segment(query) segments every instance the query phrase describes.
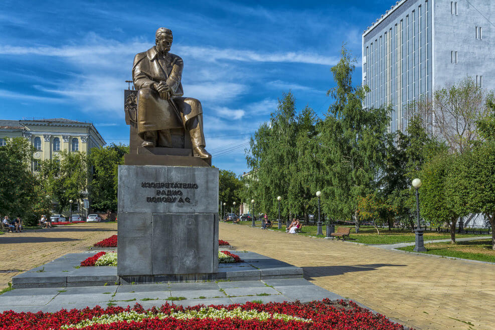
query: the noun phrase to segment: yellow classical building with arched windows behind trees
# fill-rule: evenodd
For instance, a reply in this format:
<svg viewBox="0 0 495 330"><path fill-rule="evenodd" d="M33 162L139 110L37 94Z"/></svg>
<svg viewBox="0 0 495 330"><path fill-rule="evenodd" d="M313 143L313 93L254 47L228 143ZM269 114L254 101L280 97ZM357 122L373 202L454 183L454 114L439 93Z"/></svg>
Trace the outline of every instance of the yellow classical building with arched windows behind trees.
<svg viewBox="0 0 495 330"><path fill-rule="evenodd" d="M83 151L90 153L91 148L106 144L98 130L91 122L75 121L65 118L32 118L22 120L0 120L0 146L5 145L6 138L24 136L36 149L33 153L31 170L37 172L44 159L53 159L62 150L69 152ZM79 204L87 212L88 192L82 192L86 198ZM84 213L86 213L84 212Z"/></svg>

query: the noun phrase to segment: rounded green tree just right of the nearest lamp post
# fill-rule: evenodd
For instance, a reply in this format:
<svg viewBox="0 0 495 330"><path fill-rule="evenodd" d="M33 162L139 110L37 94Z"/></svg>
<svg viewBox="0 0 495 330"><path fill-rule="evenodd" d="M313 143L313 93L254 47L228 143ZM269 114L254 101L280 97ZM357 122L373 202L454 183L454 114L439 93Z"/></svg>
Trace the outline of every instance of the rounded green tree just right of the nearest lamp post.
<svg viewBox="0 0 495 330"><path fill-rule="evenodd" d="M421 216L432 225L449 226L452 244L455 244L457 219L464 215L457 213L459 209L454 206L452 187L449 186L452 182L449 174L452 175L455 169L456 156L440 153L427 161L421 171L423 184L419 189Z"/></svg>

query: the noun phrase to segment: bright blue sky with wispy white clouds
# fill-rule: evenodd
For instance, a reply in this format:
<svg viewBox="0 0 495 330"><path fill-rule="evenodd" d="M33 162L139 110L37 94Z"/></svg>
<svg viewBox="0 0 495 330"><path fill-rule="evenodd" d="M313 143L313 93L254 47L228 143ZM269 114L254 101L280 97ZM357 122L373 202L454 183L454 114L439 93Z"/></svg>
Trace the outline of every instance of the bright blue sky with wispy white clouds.
<svg viewBox="0 0 495 330"><path fill-rule="evenodd" d="M154 33L174 33L185 96L203 104L213 164L242 174L250 133L282 92L319 115L342 44L361 63L361 34L395 1L5 1L0 12L0 119L92 121L128 143L124 80ZM361 80L357 68L355 83Z"/></svg>

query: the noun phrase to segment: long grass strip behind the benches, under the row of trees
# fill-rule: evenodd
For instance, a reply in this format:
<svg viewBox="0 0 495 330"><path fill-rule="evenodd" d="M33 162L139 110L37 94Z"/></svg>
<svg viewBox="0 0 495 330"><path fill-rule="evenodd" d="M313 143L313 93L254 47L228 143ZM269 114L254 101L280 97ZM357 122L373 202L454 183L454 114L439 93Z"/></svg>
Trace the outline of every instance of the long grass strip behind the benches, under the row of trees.
<svg viewBox="0 0 495 330"><path fill-rule="evenodd" d="M242 226L251 226L251 221L241 221L240 225ZM257 227L261 227L261 221L256 222ZM276 231L285 232L285 222L282 222L282 229L277 229L277 224L271 229ZM339 228L340 226L336 226ZM377 234L377 231L372 226L361 226L360 233L356 234L354 226L343 226L343 227L351 227L351 235L348 239L352 242L364 243L364 244L393 244L393 243L401 243L401 242L414 242L415 234L411 232L407 232L407 230L401 231L397 228L392 228L391 231L388 228L380 228L380 235ZM302 226L302 231L300 235L306 236L315 236L315 237L324 237L325 235L325 226L323 225L322 231L323 235L316 235L316 226ZM479 234L456 234L455 237L475 237L480 236ZM426 231L424 233L424 240L433 240L433 239L446 239L450 238L449 233L437 233Z"/></svg>

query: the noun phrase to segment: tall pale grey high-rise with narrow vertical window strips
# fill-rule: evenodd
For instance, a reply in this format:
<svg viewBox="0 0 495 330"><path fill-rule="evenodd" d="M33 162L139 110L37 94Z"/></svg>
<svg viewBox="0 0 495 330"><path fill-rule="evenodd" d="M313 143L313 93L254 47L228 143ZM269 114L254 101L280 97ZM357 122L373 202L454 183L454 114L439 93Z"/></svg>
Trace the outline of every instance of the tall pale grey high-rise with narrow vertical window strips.
<svg viewBox="0 0 495 330"><path fill-rule="evenodd" d="M363 33L365 107L392 105L404 130L407 105L471 77L495 90L494 0L401 0Z"/></svg>

